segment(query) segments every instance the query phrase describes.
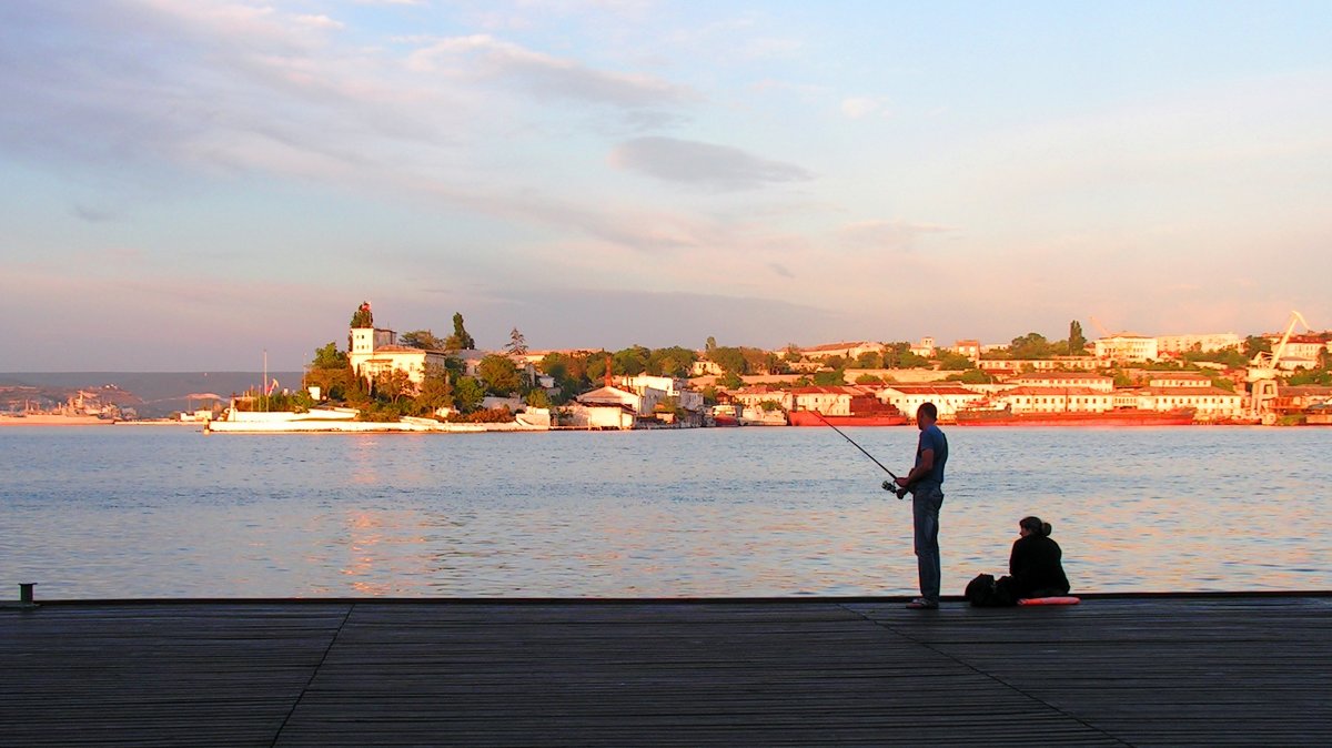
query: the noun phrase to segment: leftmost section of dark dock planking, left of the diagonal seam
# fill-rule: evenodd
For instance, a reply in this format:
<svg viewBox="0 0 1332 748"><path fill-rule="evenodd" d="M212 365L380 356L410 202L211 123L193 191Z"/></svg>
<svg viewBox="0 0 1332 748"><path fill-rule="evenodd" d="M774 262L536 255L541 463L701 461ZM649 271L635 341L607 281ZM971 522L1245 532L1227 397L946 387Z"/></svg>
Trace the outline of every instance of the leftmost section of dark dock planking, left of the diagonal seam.
<svg viewBox="0 0 1332 748"><path fill-rule="evenodd" d="M268 745L348 610L0 611L0 744Z"/></svg>

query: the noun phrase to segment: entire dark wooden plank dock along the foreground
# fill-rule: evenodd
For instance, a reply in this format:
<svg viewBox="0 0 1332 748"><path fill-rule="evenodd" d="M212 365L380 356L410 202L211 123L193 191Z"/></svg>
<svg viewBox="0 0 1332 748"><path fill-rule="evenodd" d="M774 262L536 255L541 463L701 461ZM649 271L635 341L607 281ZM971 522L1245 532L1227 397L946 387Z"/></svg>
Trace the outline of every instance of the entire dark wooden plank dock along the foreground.
<svg viewBox="0 0 1332 748"><path fill-rule="evenodd" d="M1332 596L64 602L0 745L1301 745Z"/></svg>

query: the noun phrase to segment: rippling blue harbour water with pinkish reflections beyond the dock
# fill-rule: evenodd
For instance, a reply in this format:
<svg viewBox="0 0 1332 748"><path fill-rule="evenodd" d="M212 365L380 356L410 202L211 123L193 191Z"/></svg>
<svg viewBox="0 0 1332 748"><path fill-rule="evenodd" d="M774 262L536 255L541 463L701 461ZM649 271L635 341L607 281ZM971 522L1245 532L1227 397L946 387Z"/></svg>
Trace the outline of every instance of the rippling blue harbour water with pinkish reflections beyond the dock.
<svg viewBox="0 0 1332 748"><path fill-rule="evenodd" d="M908 466L915 430L846 433ZM1332 429L947 433L946 594L1027 514L1075 591L1332 588ZM9 427L0 599L911 594L883 478L830 429Z"/></svg>

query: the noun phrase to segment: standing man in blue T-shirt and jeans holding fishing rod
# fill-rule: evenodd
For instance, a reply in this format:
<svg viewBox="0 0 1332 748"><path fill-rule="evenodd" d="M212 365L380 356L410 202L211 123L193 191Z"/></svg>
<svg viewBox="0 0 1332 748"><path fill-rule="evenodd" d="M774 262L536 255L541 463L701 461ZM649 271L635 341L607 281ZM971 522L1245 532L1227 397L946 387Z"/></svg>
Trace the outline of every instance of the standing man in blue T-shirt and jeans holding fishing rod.
<svg viewBox="0 0 1332 748"><path fill-rule="evenodd" d="M943 506L943 466L948 462L948 439L938 426L939 409L932 402L916 410L916 462L911 472L898 478L898 486L911 491L911 519L915 526L916 564L920 570L920 596L908 608L939 607L939 507Z"/></svg>

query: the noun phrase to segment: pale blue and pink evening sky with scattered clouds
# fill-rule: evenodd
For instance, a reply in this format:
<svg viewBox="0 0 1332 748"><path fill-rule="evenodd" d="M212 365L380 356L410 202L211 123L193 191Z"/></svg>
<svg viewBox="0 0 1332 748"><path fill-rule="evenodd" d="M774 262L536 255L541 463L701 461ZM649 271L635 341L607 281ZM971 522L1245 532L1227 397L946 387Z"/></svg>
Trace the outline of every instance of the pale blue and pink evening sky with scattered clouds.
<svg viewBox="0 0 1332 748"><path fill-rule="evenodd" d="M0 3L0 371L1332 327L1332 4Z"/></svg>

